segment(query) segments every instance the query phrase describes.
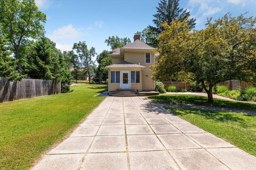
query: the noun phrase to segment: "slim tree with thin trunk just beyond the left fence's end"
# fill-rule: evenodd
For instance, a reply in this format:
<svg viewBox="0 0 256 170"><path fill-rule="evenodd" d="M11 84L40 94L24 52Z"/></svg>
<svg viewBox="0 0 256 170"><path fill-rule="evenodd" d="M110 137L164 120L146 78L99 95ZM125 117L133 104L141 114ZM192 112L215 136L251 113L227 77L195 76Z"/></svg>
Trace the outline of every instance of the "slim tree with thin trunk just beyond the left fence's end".
<svg viewBox="0 0 256 170"><path fill-rule="evenodd" d="M70 63L69 67L74 69L75 77L76 77L76 83L77 83L77 75L78 75L78 71L81 67L81 61L79 60L78 55L76 55L73 50L71 50L67 53L64 52L63 54L65 54L67 56L67 60Z"/></svg>

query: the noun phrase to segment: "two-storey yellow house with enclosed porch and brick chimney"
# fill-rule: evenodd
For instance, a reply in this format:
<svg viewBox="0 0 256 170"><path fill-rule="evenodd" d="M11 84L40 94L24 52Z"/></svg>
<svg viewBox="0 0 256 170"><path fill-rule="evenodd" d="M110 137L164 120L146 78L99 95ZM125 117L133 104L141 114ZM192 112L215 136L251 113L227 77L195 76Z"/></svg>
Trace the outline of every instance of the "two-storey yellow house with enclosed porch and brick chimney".
<svg viewBox="0 0 256 170"><path fill-rule="evenodd" d="M155 81L149 69L155 64L156 48L140 41L135 35L133 43L116 48L109 55L108 91L111 96L134 96L141 91L154 91Z"/></svg>

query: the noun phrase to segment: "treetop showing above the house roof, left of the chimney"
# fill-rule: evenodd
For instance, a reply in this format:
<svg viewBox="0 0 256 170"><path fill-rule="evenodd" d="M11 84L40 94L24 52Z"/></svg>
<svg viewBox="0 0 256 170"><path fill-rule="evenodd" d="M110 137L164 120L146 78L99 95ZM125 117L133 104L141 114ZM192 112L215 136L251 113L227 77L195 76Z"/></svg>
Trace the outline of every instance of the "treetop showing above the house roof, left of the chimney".
<svg viewBox="0 0 256 170"><path fill-rule="evenodd" d="M111 49L116 49L118 47L123 47L124 45L131 43L130 38L124 37L124 38L119 38L119 37L108 37L108 39L105 40L105 43L107 43L107 46L110 46Z"/></svg>

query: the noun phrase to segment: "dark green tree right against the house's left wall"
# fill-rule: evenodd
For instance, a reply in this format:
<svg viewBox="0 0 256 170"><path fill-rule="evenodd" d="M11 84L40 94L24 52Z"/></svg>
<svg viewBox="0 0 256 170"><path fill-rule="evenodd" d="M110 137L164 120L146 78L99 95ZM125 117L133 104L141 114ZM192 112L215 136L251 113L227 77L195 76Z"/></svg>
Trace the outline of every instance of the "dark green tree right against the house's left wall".
<svg viewBox="0 0 256 170"><path fill-rule="evenodd" d="M110 52L108 50L103 50L98 56L97 56L97 77L99 78L99 82L106 81L108 78L108 69L106 66L111 64L111 59L108 57Z"/></svg>

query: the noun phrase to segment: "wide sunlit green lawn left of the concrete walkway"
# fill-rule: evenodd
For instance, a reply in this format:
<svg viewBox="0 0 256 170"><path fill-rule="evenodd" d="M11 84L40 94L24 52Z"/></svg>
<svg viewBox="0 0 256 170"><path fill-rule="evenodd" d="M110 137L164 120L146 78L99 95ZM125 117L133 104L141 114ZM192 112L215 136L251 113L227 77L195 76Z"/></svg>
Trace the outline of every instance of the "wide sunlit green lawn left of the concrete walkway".
<svg viewBox="0 0 256 170"><path fill-rule="evenodd" d="M75 86L73 92L0 103L0 169L28 169L60 142L105 97L107 86Z"/></svg>

